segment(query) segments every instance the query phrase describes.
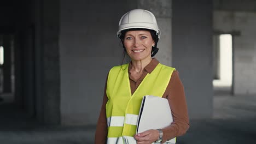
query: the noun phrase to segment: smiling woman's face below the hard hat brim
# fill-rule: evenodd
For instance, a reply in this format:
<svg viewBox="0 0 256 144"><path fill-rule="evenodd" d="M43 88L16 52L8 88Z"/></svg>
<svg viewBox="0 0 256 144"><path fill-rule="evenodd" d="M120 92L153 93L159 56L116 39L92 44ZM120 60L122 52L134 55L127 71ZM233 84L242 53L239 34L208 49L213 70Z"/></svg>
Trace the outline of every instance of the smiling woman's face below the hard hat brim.
<svg viewBox="0 0 256 144"><path fill-rule="evenodd" d="M124 37L124 46L127 54L133 61L151 59L154 40L149 31L127 31Z"/></svg>

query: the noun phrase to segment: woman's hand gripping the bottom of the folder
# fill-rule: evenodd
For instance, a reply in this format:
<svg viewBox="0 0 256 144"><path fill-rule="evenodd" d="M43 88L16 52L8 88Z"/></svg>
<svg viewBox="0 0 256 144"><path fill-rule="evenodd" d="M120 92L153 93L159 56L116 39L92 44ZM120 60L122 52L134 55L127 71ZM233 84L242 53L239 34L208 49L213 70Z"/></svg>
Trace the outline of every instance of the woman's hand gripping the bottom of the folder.
<svg viewBox="0 0 256 144"><path fill-rule="evenodd" d="M159 131L156 129L150 129L134 136L135 140L137 140L137 144L151 144L155 142L158 137Z"/></svg>

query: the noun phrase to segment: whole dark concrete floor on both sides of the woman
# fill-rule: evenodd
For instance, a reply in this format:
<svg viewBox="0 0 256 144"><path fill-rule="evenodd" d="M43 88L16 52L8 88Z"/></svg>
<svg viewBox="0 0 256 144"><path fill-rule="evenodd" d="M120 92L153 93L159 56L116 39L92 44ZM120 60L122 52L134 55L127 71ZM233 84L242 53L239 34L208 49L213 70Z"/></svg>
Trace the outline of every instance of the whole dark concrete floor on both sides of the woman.
<svg viewBox="0 0 256 144"><path fill-rule="evenodd" d="M0 102L3 103L3 102ZM256 95L217 94L212 119L190 121L177 144L256 143ZM95 125L45 127L11 104L0 105L1 144L94 143Z"/></svg>

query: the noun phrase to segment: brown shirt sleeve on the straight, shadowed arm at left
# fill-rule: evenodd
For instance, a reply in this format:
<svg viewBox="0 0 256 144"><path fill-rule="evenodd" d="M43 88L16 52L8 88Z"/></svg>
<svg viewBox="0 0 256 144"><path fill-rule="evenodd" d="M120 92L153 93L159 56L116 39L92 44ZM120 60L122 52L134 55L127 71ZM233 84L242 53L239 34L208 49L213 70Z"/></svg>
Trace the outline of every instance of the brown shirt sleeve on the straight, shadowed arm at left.
<svg viewBox="0 0 256 144"><path fill-rule="evenodd" d="M107 118L106 118L106 104L108 101L108 97L106 94L106 88L107 88L107 80L104 88L101 112L100 112L100 116L98 117L98 122L97 122L97 127L95 132L95 138L94 138L95 144L107 143L108 127L107 127Z"/></svg>

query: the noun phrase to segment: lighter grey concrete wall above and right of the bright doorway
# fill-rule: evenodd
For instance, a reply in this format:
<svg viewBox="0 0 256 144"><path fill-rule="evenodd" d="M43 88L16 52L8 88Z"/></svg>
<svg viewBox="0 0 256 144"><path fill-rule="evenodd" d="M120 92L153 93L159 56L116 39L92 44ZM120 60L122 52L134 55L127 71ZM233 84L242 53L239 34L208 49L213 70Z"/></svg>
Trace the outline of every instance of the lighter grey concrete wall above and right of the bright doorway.
<svg viewBox="0 0 256 144"><path fill-rule="evenodd" d="M214 30L232 33L234 49L234 94L256 94L256 13L214 11Z"/></svg>

